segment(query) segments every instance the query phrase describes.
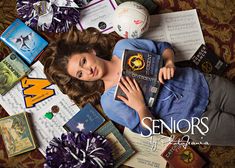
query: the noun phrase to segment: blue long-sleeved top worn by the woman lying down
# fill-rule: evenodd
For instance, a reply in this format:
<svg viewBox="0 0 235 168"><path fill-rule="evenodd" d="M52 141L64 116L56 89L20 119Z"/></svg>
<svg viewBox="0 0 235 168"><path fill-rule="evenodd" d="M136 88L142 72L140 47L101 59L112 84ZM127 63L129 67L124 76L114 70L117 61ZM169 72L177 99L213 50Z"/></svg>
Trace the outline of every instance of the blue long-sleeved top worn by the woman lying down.
<svg viewBox="0 0 235 168"><path fill-rule="evenodd" d="M162 54L166 48L172 48L169 43L145 39L120 40L113 50L113 55L121 59L124 49L149 51ZM134 132L143 133L138 113L122 101L114 100L117 86L105 91L101 96L101 105L106 115L116 123L128 127ZM176 123L192 117L201 117L208 104L209 88L204 75L192 68L176 68L173 79L165 81L160 89L158 99L151 109L156 118L161 118L171 128L171 121ZM180 122L180 128L188 127L186 122Z"/></svg>

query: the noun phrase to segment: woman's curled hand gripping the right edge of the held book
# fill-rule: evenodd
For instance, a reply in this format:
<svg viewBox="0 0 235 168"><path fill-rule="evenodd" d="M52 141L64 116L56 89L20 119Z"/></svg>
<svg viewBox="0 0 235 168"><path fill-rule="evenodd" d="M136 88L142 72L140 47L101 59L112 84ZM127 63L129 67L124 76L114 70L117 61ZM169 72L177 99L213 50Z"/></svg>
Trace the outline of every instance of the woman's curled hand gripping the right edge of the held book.
<svg viewBox="0 0 235 168"><path fill-rule="evenodd" d="M175 65L172 60L168 60L163 68L160 69L158 74L158 80L164 84L164 80L173 78L175 74Z"/></svg>

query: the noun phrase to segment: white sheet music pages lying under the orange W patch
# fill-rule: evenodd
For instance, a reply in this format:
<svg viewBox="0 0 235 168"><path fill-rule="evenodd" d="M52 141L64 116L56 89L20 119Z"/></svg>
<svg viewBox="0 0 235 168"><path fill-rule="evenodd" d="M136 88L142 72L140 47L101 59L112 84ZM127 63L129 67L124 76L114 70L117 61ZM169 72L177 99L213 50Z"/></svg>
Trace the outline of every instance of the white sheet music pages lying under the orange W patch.
<svg viewBox="0 0 235 168"><path fill-rule="evenodd" d="M32 65L32 71L28 75L30 79L37 80L46 79L43 72L43 65L38 61ZM54 137L60 137L63 132L66 132L63 125L72 118L80 109L66 95L64 95L56 85L50 85L44 89L54 90L54 95L35 104L34 107L27 108L21 83L18 83L12 90L4 96L0 96L0 104L8 112L9 115L14 115L23 111L31 113L32 130L35 132L38 140L39 150L45 156L46 147L49 141ZM36 88L35 88L36 89ZM33 89L31 88L33 92ZM34 96L34 95L31 95ZM51 108L57 106L58 113L53 113L53 118L45 117L47 112L51 112Z"/></svg>

